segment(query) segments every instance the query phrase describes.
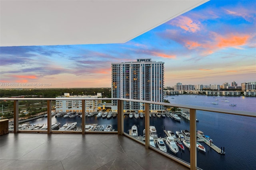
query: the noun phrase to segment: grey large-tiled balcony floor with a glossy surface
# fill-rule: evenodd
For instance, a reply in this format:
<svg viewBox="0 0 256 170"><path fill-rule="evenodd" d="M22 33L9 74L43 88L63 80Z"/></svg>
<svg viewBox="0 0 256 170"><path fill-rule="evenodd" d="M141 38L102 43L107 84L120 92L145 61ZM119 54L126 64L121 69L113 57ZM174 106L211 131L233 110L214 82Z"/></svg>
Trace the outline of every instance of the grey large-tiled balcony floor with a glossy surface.
<svg viewBox="0 0 256 170"><path fill-rule="evenodd" d="M0 136L1 170L188 170L117 134L9 133Z"/></svg>

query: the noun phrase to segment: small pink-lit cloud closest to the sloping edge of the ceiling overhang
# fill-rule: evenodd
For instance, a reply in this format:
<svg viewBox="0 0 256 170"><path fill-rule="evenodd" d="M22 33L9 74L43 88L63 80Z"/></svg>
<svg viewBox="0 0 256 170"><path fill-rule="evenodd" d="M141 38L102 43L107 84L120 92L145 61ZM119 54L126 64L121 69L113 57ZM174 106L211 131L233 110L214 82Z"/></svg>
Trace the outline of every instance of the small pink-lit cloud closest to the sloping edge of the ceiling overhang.
<svg viewBox="0 0 256 170"><path fill-rule="evenodd" d="M191 18L186 16L179 16L171 20L169 23L193 33L200 30L200 22L193 21Z"/></svg>

